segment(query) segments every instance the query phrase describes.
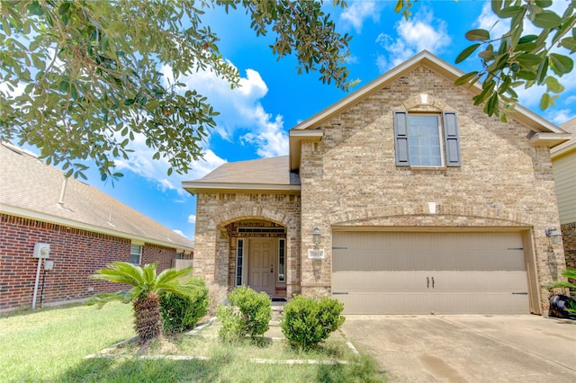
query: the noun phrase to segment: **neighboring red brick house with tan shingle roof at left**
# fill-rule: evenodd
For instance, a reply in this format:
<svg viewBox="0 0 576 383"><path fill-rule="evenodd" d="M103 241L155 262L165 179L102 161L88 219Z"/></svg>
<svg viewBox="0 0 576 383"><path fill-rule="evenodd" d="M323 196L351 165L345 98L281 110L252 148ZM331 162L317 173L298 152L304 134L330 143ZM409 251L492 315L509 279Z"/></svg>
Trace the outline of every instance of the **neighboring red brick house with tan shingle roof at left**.
<svg viewBox="0 0 576 383"><path fill-rule="evenodd" d="M36 244L49 245L52 270L40 262L36 307L121 289L90 275L114 261L158 263L190 258L193 243L103 191L0 145L0 311L32 304ZM49 263L48 263L49 264ZM42 289L43 285L43 289Z"/></svg>

